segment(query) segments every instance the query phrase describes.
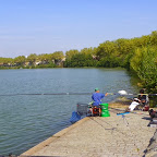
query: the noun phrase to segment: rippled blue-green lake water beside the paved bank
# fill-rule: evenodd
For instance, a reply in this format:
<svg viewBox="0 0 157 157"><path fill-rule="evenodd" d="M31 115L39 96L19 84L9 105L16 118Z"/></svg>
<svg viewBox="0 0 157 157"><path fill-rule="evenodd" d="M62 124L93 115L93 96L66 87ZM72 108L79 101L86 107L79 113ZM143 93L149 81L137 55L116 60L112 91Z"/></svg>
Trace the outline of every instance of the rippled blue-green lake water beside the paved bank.
<svg viewBox="0 0 157 157"><path fill-rule="evenodd" d="M43 93L134 93L130 76L116 69L1 70L0 95ZM107 96L108 102L114 96ZM77 102L90 95L0 96L0 155L20 155L69 126Z"/></svg>

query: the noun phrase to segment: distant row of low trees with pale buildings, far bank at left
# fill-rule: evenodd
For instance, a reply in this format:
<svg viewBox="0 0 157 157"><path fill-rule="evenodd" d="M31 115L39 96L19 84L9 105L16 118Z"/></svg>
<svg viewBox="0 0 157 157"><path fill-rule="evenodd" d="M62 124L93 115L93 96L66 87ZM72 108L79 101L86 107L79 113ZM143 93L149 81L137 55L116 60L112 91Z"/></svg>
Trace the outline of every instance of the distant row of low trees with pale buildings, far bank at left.
<svg viewBox="0 0 157 157"><path fill-rule="evenodd" d="M56 51L53 53L36 55L31 53L28 57L19 56L12 58L0 58L1 69L10 68L56 68L62 67L64 55L62 51Z"/></svg>

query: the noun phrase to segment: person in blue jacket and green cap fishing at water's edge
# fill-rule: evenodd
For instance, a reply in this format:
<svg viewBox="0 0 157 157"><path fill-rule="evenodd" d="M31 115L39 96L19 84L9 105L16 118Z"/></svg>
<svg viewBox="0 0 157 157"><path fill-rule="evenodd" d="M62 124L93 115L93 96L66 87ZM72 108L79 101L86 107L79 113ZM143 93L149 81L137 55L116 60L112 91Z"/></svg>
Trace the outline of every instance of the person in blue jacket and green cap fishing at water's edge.
<svg viewBox="0 0 157 157"><path fill-rule="evenodd" d="M101 104L101 99L107 95L108 95L108 93L101 94L101 93L99 93L98 88L95 88L95 93L92 96L92 99L94 101L93 106L99 106Z"/></svg>

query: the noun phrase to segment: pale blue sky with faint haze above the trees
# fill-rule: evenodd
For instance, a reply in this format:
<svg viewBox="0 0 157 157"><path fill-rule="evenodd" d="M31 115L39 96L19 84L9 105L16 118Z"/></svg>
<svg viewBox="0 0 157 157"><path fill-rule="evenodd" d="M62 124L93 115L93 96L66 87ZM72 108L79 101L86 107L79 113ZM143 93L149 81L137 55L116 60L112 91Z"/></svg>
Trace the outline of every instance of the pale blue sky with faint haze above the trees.
<svg viewBox="0 0 157 157"><path fill-rule="evenodd" d="M0 0L0 57L81 50L157 31L157 0Z"/></svg>

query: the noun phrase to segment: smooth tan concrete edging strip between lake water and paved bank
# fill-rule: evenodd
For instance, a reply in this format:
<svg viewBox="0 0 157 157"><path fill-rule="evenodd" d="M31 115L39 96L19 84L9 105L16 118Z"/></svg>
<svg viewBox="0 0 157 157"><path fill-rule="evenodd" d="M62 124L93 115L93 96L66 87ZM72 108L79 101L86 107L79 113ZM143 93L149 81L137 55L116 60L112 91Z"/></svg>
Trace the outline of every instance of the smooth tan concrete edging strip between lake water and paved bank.
<svg viewBox="0 0 157 157"><path fill-rule="evenodd" d="M89 120L88 117L77 121L76 123L59 131L58 133L53 134L52 136L50 136L49 138L45 140L44 142L39 143L38 145L32 147L31 149L24 152L23 154L20 155L20 157L22 156L32 156L33 154L35 154L36 152L40 150L41 148L44 148L45 146L48 146L50 143L52 143L53 141L56 141L57 138L63 136L65 133L68 133L69 131L73 130L74 128L78 126L80 124L84 123L85 121Z"/></svg>

